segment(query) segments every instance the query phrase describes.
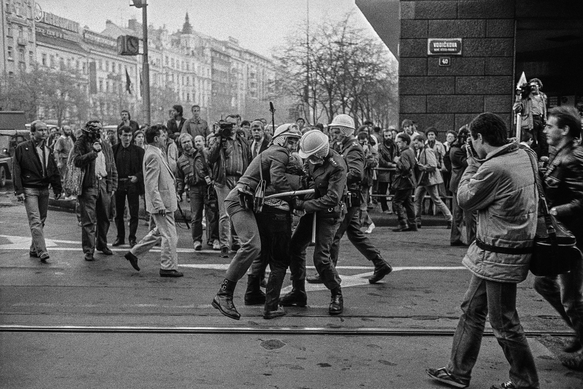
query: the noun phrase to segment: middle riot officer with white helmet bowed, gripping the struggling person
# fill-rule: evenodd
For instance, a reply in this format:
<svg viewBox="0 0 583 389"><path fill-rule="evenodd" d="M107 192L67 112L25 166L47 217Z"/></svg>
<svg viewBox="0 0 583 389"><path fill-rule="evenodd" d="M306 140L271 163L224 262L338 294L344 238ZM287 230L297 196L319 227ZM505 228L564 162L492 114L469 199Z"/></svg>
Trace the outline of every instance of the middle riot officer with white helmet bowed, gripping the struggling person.
<svg viewBox="0 0 583 389"><path fill-rule="evenodd" d="M322 282L331 291L328 312L331 315L342 313L344 309L340 276L330 258L332 240L342 221L345 209L342 199L346 195L346 164L343 158L331 150L328 137L319 130L307 131L300 140L300 157L306 158L308 186L315 193L304 200L296 200L293 206L305 210L306 214L291 236L290 270L293 289L280 299L284 306L305 307L305 249L310 244L312 220L316 215L314 265L322 277Z"/></svg>

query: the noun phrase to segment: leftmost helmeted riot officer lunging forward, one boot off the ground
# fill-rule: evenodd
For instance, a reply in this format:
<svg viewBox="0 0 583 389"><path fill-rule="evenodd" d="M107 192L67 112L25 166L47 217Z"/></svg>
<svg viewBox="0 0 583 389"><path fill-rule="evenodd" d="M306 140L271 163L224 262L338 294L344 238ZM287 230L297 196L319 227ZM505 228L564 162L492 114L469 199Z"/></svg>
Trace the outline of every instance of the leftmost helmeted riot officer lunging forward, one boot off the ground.
<svg viewBox="0 0 583 389"><path fill-rule="evenodd" d="M241 315L233 304L233 292L238 280L245 275L254 259L261 255L261 239L255 212L260 211L257 204L258 202L262 203L262 196L270 194L269 192L261 192L266 187L271 188L273 193L293 190L286 178L286 167L290 163L290 150L296 149L301 133L297 128L294 128L297 126L289 127L291 126L288 125L282 128L278 134L274 134L273 144L253 159L236 186L224 200L224 206L241 241L241 247L231 261L226 277L213 299L212 305L223 315L236 320L240 319ZM291 218L289 220L289 234L291 234ZM268 316L268 318L285 315L285 311L279 309L278 298L289 265L289 258L286 259L285 256L282 256L279 259L280 261L270 263L273 265L267 289L271 293L268 293L269 304L265 306L268 312L264 313L264 317ZM278 298L271 297L275 295Z"/></svg>

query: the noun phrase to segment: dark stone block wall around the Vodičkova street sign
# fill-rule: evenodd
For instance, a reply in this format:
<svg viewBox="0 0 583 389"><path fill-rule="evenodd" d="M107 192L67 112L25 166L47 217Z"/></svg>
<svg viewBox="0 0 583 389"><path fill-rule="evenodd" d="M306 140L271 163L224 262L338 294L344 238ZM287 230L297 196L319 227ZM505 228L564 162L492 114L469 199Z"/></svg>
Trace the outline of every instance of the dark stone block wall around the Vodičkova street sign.
<svg viewBox="0 0 583 389"><path fill-rule="evenodd" d="M494 112L511 128L514 3L401 0L399 122L435 126L445 138L477 114ZM428 38L462 38L462 55L441 67L437 55L427 55Z"/></svg>

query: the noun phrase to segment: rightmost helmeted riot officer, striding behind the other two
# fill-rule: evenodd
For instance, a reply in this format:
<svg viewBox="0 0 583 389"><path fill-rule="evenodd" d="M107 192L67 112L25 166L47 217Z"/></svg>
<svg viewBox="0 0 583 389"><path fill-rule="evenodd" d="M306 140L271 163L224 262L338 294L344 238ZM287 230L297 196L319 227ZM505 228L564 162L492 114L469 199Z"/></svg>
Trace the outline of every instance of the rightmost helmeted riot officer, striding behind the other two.
<svg viewBox="0 0 583 389"><path fill-rule="evenodd" d="M337 115L329 125L329 129L333 134L334 141L340 145L340 154L345 159L348 168L346 175L346 185L348 187L346 196L347 213L334 236L330 256L334 266L336 266L340 239L346 232L354 247L368 261L373 262L374 273L368 279L368 282L374 284L391 273L392 268L387 261L382 259L381 252L373 246L367 235L360 230L360 204L364 201L360 190L360 181L364 175L364 151L354 138L354 120L352 117L344 113ZM308 282L321 283L321 275L308 278Z"/></svg>

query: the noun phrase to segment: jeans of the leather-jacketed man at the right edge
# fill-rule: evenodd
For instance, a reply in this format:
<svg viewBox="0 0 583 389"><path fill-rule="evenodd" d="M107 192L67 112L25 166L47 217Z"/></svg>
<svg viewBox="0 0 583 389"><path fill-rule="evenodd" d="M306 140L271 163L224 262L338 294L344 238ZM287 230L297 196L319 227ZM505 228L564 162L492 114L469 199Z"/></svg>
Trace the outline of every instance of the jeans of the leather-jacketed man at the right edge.
<svg viewBox="0 0 583 389"><path fill-rule="evenodd" d="M583 246L578 242L578 246ZM583 339L583 263L571 272L554 277L536 277L535 290L559 312L575 337Z"/></svg>

